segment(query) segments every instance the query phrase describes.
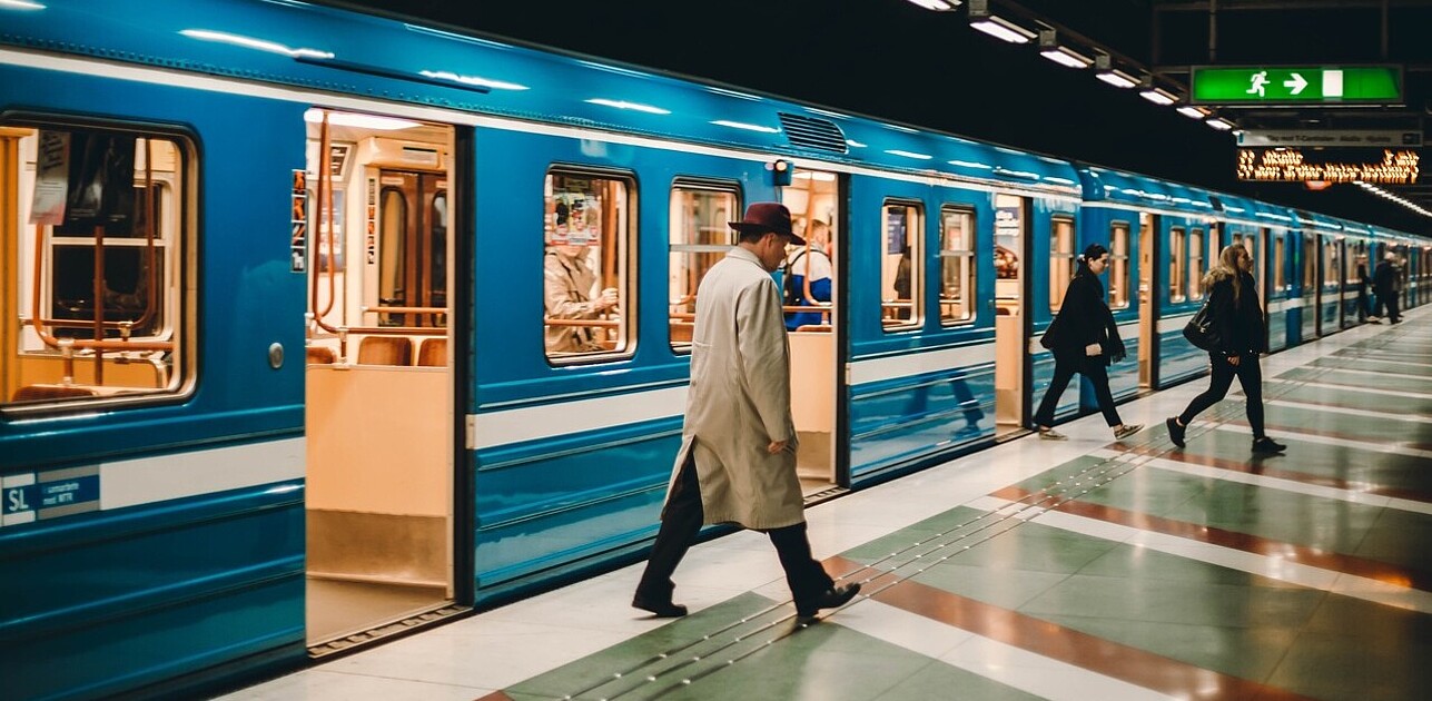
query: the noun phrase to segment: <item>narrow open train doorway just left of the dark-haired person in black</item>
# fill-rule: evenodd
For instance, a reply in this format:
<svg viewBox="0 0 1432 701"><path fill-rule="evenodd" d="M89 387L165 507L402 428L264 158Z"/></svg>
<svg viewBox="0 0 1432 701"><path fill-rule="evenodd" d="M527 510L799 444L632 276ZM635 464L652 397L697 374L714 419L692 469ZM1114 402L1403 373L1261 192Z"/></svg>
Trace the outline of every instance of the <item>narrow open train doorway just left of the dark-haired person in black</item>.
<svg viewBox="0 0 1432 701"><path fill-rule="evenodd" d="M995 438L1024 428L1028 386L1028 219L1024 197L994 196Z"/></svg>

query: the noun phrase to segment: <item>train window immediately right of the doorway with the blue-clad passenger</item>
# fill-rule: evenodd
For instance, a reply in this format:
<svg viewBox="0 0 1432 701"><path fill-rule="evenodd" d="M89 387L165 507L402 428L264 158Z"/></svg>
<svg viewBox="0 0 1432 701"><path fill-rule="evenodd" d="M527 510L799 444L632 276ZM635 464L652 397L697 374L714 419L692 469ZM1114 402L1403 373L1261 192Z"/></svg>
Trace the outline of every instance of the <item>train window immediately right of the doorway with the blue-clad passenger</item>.
<svg viewBox="0 0 1432 701"><path fill-rule="evenodd" d="M919 325L924 207L914 202L886 202L881 237L881 325L902 330Z"/></svg>

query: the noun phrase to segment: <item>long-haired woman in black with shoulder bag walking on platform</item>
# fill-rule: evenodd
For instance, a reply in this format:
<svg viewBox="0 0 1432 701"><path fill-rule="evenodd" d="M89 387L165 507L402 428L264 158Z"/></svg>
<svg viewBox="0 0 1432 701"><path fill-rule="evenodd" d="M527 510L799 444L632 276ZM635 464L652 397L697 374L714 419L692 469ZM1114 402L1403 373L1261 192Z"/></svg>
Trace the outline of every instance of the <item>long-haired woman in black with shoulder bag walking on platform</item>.
<svg viewBox="0 0 1432 701"><path fill-rule="evenodd" d="M1263 371L1259 368L1259 355L1267 352L1267 335L1263 332L1263 305L1259 302L1252 270L1253 256L1242 243L1234 243L1219 253L1219 265L1203 278L1214 330L1214 348L1209 350L1211 379L1209 389L1194 396L1183 413L1164 421L1169 438L1179 448L1184 446L1189 422L1221 401L1237 375L1243 396L1247 398L1253 452L1270 455L1287 449L1263 432Z"/></svg>

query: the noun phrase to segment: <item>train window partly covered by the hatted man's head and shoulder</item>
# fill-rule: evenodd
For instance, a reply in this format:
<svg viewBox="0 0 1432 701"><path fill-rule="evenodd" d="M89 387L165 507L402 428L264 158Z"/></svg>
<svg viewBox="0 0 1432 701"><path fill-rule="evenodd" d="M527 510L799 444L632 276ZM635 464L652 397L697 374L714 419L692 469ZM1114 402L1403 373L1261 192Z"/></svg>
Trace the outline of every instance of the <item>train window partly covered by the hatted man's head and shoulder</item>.
<svg viewBox="0 0 1432 701"><path fill-rule="evenodd" d="M729 223L740 219L740 193L735 186L683 182L672 186L666 305L673 350L692 349L696 288L706 270L736 245L736 232Z"/></svg>

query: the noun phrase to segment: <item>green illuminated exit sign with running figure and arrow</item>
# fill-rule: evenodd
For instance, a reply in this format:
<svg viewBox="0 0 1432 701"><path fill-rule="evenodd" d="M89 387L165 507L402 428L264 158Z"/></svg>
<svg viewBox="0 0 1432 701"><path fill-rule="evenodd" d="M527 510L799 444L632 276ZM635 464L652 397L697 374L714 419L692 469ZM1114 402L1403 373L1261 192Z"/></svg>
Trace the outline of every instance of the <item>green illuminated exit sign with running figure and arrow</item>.
<svg viewBox="0 0 1432 701"><path fill-rule="evenodd" d="M1193 67L1194 104L1388 104L1402 102L1400 66Z"/></svg>

